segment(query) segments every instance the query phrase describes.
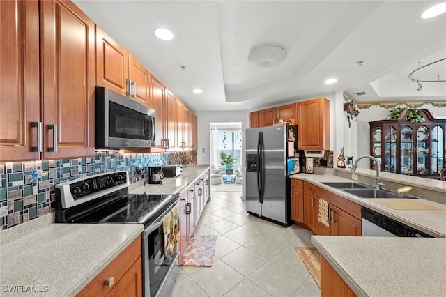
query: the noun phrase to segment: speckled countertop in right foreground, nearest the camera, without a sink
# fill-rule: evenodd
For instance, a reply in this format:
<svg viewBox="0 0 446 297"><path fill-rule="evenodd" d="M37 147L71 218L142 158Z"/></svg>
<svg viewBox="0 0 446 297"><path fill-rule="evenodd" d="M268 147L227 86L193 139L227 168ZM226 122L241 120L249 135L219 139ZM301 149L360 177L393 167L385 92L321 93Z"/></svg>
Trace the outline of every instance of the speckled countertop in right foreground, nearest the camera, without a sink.
<svg viewBox="0 0 446 297"><path fill-rule="evenodd" d="M357 296L445 296L446 240L312 236Z"/></svg>

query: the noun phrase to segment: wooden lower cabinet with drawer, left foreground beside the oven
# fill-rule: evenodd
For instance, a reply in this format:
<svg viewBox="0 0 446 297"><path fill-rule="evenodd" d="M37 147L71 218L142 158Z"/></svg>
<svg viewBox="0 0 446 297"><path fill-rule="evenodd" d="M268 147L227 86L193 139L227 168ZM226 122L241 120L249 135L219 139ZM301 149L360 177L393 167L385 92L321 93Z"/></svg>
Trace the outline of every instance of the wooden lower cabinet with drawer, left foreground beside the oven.
<svg viewBox="0 0 446 297"><path fill-rule="evenodd" d="M142 296L141 235L77 294L83 296Z"/></svg>

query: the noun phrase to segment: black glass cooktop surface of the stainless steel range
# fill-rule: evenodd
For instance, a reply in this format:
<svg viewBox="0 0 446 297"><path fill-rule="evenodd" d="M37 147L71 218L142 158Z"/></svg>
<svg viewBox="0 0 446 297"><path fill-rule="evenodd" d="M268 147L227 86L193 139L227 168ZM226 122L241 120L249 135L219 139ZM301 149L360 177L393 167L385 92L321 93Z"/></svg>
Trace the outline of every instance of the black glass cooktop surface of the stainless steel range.
<svg viewBox="0 0 446 297"><path fill-rule="evenodd" d="M125 195L72 220L76 223L151 224L176 201L176 195Z"/></svg>

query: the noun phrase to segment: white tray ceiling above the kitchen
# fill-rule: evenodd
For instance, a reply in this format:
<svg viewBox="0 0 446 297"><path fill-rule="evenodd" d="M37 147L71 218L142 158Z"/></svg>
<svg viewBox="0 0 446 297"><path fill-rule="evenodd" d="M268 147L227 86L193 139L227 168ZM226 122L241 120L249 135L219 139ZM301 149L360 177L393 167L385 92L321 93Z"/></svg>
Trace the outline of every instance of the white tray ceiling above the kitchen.
<svg viewBox="0 0 446 297"><path fill-rule="evenodd" d="M417 91L408 79L418 61L446 57L446 14L420 18L441 1L74 2L195 112L260 109L339 90L357 101L446 101L446 82ZM174 39L157 39L158 27ZM286 59L252 66L247 56L260 45L284 47ZM414 78L424 75L445 80L446 60ZM330 77L338 82L324 84ZM355 96L360 91L367 95Z"/></svg>

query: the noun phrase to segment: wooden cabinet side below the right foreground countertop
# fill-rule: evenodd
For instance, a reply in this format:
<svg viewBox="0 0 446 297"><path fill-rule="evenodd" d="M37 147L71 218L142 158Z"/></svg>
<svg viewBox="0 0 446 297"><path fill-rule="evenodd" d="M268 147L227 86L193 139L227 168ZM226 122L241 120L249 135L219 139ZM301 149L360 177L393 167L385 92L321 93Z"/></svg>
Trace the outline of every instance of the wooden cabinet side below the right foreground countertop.
<svg viewBox="0 0 446 297"><path fill-rule="evenodd" d="M342 277L321 256L321 297L354 297L355 292L348 287Z"/></svg>

